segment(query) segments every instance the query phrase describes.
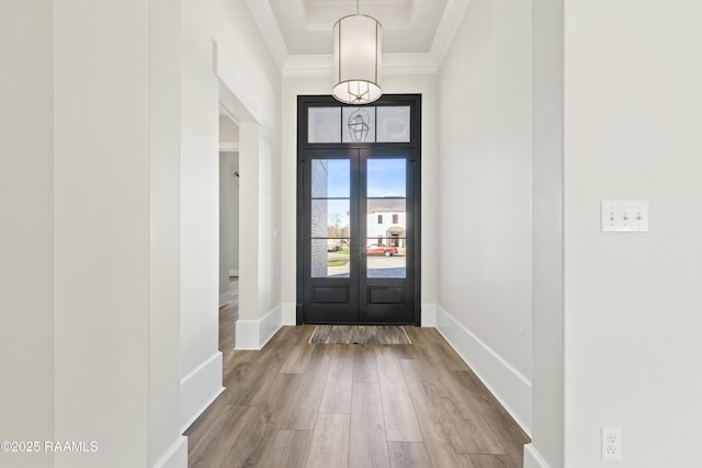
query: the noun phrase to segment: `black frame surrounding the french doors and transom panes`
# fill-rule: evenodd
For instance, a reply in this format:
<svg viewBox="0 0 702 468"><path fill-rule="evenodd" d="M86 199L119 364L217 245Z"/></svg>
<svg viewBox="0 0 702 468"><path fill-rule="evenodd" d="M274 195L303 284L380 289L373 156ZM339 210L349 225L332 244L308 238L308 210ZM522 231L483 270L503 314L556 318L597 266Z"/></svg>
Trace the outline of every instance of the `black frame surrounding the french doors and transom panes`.
<svg viewBox="0 0 702 468"><path fill-rule="evenodd" d="M421 326L421 94L384 94L380 100L369 106L403 105L410 107L410 140L409 142L340 142L340 144L309 144L307 141L308 110L309 107L344 107L354 105L342 104L330 95L298 95L297 96L297 227L296 227L296 323L304 323L304 247L305 240L303 196L304 155L306 149L396 149L411 150L414 163L412 196L415 198L415 213L411 228L415 232L414 242L414 324ZM410 265L408 265L409 267Z"/></svg>

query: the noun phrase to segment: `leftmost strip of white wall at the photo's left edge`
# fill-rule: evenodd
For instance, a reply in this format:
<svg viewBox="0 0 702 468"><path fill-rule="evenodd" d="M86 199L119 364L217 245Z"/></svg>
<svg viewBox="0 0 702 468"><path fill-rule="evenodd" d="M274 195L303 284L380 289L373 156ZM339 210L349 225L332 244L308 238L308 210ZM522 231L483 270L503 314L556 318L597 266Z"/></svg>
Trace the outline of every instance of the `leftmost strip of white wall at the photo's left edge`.
<svg viewBox="0 0 702 468"><path fill-rule="evenodd" d="M0 441L54 440L53 35L52 2L0 7Z"/></svg>

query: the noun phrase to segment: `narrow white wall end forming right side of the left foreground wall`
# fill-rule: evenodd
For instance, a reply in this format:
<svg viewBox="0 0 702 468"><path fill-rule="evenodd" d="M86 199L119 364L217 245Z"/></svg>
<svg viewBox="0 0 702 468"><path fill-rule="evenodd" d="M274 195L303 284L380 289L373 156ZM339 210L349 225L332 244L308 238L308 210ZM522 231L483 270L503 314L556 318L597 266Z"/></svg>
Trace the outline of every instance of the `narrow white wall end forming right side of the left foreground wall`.
<svg viewBox="0 0 702 468"><path fill-rule="evenodd" d="M148 465L184 467L180 434L180 0L149 2Z"/></svg>

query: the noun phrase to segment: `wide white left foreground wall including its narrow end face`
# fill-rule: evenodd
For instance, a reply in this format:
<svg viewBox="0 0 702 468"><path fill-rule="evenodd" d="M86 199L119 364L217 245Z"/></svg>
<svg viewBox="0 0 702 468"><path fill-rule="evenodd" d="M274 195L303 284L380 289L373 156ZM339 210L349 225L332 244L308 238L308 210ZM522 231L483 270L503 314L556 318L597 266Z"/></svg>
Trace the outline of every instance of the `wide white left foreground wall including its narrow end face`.
<svg viewBox="0 0 702 468"><path fill-rule="evenodd" d="M56 466L182 466L179 4L54 13Z"/></svg>

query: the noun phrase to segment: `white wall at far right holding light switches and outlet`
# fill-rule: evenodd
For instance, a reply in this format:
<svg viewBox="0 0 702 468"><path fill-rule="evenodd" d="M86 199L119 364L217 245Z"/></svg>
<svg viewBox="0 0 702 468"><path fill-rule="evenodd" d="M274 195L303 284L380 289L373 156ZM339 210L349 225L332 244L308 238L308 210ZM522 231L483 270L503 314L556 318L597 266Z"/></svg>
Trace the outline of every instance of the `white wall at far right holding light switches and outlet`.
<svg viewBox="0 0 702 468"><path fill-rule="evenodd" d="M702 419L702 3L565 2L566 466L692 468ZM650 201L648 233L600 201ZM680 449L671 447L680 447Z"/></svg>

